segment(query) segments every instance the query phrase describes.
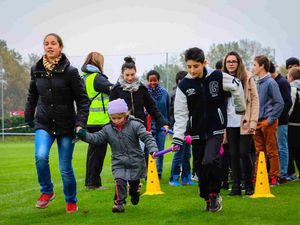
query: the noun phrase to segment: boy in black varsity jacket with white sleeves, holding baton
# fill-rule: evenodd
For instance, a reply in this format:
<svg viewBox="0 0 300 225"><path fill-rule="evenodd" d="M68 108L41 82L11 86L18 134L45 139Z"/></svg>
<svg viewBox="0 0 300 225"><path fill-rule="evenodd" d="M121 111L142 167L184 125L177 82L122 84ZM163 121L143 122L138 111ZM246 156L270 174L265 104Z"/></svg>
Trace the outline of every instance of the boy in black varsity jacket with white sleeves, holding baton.
<svg viewBox="0 0 300 225"><path fill-rule="evenodd" d="M228 94L234 97L237 114L244 114L245 100L240 81L226 73L205 67L204 52L190 48L185 52L188 75L179 83L174 102L173 147L182 146L187 123L199 177L200 197L205 211L222 209L220 147L227 124Z"/></svg>

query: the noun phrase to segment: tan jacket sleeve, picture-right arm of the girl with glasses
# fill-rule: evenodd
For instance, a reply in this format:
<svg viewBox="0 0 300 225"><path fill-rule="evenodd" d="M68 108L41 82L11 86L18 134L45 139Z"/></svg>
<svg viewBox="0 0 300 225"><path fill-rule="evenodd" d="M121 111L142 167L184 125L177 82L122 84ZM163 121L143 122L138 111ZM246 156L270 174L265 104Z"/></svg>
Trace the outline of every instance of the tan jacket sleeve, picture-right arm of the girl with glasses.
<svg viewBox="0 0 300 225"><path fill-rule="evenodd" d="M253 77L249 80L250 87L250 128L256 129L258 116L259 116L259 99L255 81Z"/></svg>

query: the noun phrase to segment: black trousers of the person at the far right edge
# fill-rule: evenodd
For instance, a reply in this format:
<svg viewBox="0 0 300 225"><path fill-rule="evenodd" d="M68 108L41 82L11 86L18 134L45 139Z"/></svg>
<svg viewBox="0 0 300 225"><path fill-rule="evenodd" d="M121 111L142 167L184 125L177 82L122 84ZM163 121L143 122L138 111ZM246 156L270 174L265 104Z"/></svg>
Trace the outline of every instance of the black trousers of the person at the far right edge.
<svg viewBox="0 0 300 225"><path fill-rule="evenodd" d="M288 126L288 146L289 146L289 166L288 175L294 174L295 164L298 171L300 171L300 141L299 141L300 127Z"/></svg>

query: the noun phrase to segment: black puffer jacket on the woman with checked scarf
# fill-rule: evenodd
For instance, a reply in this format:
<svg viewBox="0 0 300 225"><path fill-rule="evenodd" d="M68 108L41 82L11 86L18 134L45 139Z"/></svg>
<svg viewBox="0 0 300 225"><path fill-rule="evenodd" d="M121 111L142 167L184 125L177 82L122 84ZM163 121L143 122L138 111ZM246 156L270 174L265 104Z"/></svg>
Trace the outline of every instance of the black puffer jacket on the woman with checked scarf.
<svg viewBox="0 0 300 225"><path fill-rule="evenodd" d="M31 68L25 122L34 120L35 130L44 129L57 136L73 136L76 126L86 126L88 112L89 99L84 84L78 70L70 65L64 54L48 76L43 59Z"/></svg>

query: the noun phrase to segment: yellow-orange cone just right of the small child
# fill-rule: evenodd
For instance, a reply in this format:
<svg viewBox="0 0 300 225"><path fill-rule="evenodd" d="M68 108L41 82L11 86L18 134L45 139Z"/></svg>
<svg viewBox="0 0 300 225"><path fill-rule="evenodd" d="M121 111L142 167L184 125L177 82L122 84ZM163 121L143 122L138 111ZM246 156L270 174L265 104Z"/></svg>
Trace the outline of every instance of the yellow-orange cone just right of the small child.
<svg viewBox="0 0 300 225"><path fill-rule="evenodd" d="M164 194L160 189L160 183L156 170L156 161L151 155L148 157L148 172L146 192L143 195L161 195Z"/></svg>

